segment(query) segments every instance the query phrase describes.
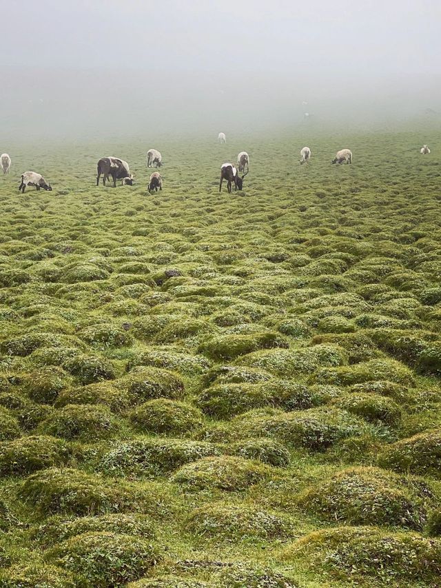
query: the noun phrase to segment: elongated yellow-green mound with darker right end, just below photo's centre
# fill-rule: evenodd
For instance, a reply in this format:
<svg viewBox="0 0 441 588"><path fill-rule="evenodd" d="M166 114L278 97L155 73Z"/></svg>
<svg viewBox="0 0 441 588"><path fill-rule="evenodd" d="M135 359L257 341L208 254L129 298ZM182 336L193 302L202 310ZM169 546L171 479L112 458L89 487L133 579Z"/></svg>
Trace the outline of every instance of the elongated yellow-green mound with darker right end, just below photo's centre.
<svg viewBox="0 0 441 588"><path fill-rule="evenodd" d="M234 359L257 349L271 347L287 348L287 341L276 333L255 333L252 335L220 335L199 346L199 351L217 361Z"/></svg>

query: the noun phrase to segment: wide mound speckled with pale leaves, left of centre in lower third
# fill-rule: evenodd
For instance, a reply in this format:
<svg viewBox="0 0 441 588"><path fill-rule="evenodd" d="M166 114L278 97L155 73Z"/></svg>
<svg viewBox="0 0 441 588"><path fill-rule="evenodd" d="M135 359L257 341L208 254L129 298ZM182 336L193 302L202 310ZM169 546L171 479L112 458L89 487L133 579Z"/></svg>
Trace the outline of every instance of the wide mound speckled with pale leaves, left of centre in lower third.
<svg viewBox="0 0 441 588"><path fill-rule="evenodd" d="M119 443L103 455L98 467L114 476L154 477L219 454L220 449L206 441L145 438Z"/></svg>

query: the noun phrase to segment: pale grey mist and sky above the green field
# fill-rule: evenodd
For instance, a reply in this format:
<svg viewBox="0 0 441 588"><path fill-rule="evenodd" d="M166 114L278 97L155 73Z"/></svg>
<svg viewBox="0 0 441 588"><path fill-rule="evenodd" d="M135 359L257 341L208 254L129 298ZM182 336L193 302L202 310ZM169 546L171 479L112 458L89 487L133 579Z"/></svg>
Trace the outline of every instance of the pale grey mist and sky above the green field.
<svg viewBox="0 0 441 588"><path fill-rule="evenodd" d="M441 121L435 1L27 0L6 10L4 138Z"/></svg>

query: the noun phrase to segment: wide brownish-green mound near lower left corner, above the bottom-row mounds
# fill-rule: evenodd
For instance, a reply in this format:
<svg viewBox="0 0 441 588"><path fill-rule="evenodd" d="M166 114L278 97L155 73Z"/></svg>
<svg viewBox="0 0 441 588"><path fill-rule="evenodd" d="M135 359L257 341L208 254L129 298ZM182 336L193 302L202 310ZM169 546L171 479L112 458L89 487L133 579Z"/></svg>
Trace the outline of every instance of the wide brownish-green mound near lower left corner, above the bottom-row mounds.
<svg viewBox="0 0 441 588"><path fill-rule="evenodd" d="M19 497L46 516L137 511L143 504L141 496L131 487L68 467L31 474L21 485Z"/></svg>

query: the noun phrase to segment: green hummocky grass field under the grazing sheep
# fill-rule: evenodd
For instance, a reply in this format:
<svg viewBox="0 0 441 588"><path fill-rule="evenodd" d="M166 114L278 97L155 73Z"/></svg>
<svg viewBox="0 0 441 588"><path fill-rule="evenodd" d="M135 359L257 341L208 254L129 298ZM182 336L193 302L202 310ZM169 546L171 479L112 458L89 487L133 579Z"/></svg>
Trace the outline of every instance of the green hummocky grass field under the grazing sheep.
<svg viewBox="0 0 441 588"><path fill-rule="evenodd" d="M440 586L437 142L3 149L0 588Z"/></svg>

